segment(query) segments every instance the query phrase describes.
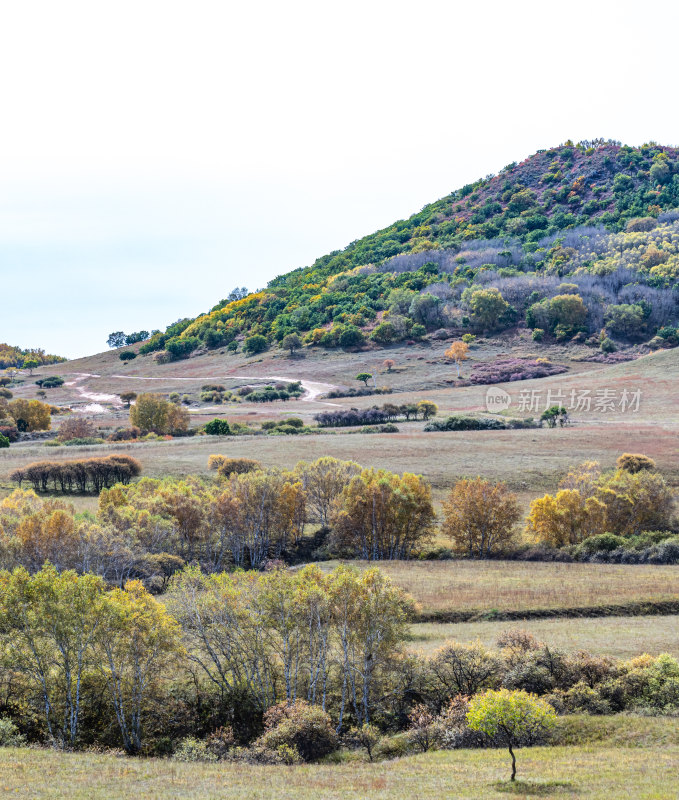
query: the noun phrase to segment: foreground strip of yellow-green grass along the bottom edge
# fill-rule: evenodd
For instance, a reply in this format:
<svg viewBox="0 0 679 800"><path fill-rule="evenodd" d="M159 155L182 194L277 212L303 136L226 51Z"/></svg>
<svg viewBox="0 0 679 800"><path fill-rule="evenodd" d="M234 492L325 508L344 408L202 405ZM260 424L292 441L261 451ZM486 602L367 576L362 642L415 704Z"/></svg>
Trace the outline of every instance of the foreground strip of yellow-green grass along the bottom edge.
<svg viewBox="0 0 679 800"><path fill-rule="evenodd" d="M576 729L569 719L561 738ZM577 720L580 745L518 751L516 786L507 781L504 750L439 751L388 764L298 767L186 764L98 753L0 749L0 796L42 800L391 800L442 797L499 800L667 800L679 795L679 721Z"/></svg>

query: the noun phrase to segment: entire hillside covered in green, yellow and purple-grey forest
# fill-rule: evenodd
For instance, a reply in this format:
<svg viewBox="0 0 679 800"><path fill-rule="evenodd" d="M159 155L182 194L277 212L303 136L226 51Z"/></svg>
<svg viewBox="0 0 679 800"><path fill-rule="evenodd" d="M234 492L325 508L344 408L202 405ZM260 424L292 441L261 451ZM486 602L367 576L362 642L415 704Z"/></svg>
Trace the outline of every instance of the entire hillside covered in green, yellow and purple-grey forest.
<svg viewBox="0 0 679 800"><path fill-rule="evenodd" d="M256 353L418 339L441 327L676 343L679 150L597 140L539 151L264 290L155 332L141 353ZM567 278L567 280L562 280ZM299 337L299 341L295 341Z"/></svg>

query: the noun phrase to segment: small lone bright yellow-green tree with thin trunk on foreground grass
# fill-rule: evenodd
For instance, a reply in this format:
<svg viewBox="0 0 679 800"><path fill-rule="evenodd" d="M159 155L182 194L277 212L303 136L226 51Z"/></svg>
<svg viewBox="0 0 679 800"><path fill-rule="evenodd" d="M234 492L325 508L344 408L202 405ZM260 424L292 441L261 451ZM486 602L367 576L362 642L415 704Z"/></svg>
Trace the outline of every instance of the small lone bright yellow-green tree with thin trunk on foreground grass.
<svg viewBox="0 0 679 800"><path fill-rule="evenodd" d="M540 741L555 726L556 713L549 703L528 692L490 689L469 701L467 724L508 747L514 781L514 748Z"/></svg>

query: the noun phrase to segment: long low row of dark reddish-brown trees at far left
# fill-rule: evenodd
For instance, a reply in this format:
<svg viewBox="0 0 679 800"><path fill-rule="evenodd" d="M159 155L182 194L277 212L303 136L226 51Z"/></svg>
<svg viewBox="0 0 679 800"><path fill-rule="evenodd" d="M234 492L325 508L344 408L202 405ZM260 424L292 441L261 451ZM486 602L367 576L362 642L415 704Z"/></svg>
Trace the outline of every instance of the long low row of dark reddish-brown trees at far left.
<svg viewBox="0 0 679 800"><path fill-rule="evenodd" d="M96 492L114 484L128 484L141 475L141 464L126 455L68 461L36 461L14 470L10 480L22 486L30 483L35 492ZM50 486L51 484L51 486Z"/></svg>

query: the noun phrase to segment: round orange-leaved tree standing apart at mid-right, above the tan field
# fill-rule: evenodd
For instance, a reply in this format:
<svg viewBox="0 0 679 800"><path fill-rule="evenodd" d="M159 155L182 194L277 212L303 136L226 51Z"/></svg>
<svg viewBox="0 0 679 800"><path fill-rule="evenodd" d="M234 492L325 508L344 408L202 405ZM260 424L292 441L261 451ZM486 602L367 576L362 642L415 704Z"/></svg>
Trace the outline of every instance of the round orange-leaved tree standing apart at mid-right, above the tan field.
<svg viewBox="0 0 679 800"><path fill-rule="evenodd" d="M515 494L506 483L482 478L463 478L443 503L441 532L449 536L459 553L488 558L509 542L521 518Z"/></svg>

